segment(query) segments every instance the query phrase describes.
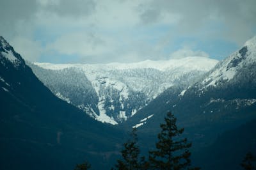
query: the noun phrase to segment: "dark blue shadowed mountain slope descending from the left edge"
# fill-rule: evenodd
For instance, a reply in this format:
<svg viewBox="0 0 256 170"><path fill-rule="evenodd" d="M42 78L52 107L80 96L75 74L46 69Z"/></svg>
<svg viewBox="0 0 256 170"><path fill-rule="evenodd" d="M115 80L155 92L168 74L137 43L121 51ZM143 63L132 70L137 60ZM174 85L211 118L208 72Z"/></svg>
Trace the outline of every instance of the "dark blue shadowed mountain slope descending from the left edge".
<svg viewBox="0 0 256 170"><path fill-rule="evenodd" d="M0 169L109 167L123 138L52 95L0 36Z"/></svg>

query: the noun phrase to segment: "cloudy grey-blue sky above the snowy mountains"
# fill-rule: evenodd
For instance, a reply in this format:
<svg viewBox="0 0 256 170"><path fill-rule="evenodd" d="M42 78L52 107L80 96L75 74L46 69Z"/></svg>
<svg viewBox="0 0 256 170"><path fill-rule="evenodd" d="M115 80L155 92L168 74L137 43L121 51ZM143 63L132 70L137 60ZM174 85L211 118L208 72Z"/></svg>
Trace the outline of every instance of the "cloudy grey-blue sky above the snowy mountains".
<svg viewBox="0 0 256 170"><path fill-rule="evenodd" d="M223 59L256 35L256 1L0 0L0 35L28 61Z"/></svg>

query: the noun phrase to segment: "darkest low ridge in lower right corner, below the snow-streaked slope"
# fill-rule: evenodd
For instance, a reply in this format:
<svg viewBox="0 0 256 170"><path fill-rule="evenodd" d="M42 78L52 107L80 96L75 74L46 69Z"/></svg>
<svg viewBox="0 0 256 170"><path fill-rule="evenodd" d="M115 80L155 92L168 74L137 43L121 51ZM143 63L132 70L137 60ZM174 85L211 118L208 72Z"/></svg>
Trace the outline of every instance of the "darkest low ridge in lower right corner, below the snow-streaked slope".
<svg viewBox="0 0 256 170"><path fill-rule="evenodd" d="M256 153L256 120L249 121L218 136L211 146L194 153L202 169L243 169L241 162L249 151ZM218 159L216 159L218 158ZM216 160L216 161L212 161ZM217 162L217 163L216 163Z"/></svg>

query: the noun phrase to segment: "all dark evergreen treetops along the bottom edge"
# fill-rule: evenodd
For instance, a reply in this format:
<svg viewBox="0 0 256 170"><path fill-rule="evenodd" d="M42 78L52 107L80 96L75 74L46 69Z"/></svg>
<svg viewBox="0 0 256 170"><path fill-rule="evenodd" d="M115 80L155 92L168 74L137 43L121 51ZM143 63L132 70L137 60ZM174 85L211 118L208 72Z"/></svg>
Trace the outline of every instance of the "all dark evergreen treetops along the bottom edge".
<svg viewBox="0 0 256 170"><path fill-rule="evenodd" d="M124 144L121 151L122 158L118 159L112 170L139 170L139 169L164 169L164 170L197 170L200 167L191 166L191 143L188 139L182 138L184 128L178 128L177 119L171 112L168 112L164 123L160 125L161 132L158 134L158 141L155 150L148 151L148 158L140 155L138 136L136 128L132 129L131 139ZM245 170L256 170L256 158L252 153L247 153L241 166ZM88 162L79 164L75 170L90 169Z"/></svg>

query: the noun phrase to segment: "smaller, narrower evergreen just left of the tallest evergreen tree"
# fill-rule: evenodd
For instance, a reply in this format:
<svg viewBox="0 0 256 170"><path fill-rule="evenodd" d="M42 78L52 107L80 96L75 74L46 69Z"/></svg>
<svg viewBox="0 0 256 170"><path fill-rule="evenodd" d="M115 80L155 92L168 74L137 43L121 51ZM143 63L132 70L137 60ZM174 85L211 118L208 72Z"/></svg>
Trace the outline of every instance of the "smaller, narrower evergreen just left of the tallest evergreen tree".
<svg viewBox="0 0 256 170"><path fill-rule="evenodd" d="M139 158L140 149L138 147L138 136L136 134L136 128L132 129L131 139L124 144L124 150L122 153L122 160L117 160L116 168L120 170L132 170L141 169L141 162L144 162L144 158Z"/></svg>

